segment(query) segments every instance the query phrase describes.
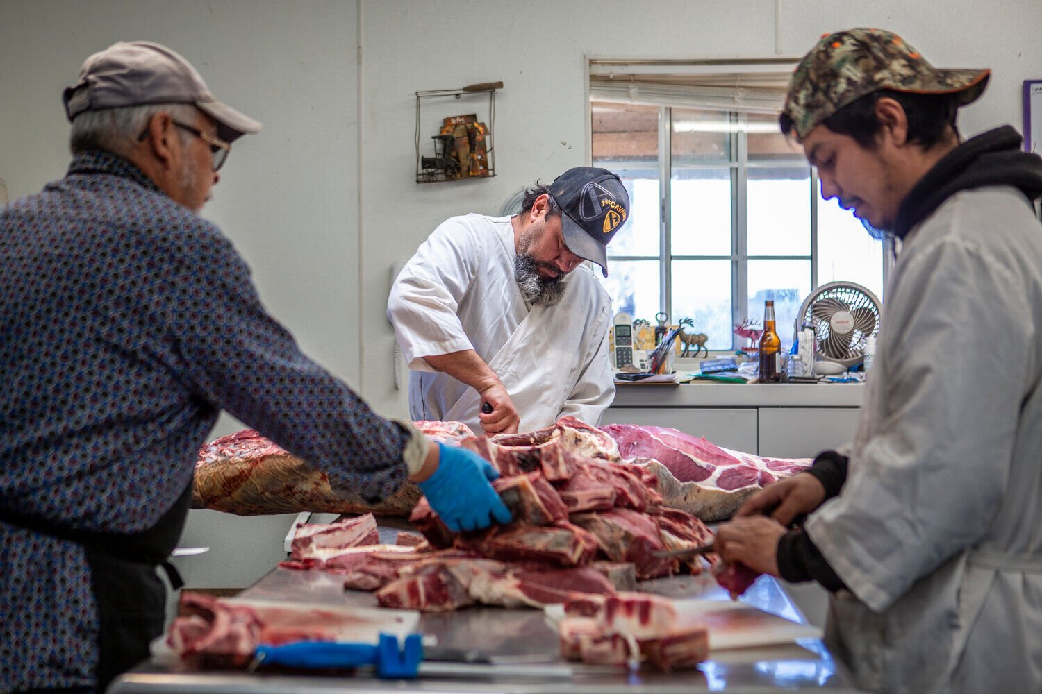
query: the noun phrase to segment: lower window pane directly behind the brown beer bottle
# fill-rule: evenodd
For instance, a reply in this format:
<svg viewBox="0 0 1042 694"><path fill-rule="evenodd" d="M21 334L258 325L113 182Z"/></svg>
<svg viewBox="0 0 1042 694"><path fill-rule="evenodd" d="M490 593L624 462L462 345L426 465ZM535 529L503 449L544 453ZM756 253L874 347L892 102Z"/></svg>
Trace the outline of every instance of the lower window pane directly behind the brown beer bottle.
<svg viewBox="0 0 1042 694"><path fill-rule="evenodd" d="M750 260L748 317L763 325L764 302L774 300L775 328L782 344L792 344L799 307L811 293L810 260Z"/></svg>

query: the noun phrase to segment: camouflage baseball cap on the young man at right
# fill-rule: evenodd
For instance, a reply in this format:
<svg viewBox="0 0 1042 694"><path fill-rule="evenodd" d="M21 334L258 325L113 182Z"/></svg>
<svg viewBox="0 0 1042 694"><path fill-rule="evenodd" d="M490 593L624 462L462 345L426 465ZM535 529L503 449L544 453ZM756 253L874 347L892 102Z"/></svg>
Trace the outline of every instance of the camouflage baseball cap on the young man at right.
<svg viewBox="0 0 1042 694"><path fill-rule="evenodd" d="M833 113L872 92L959 94L959 105L965 106L981 96L990 76L990 70L939 70L890 31L838 31L822 36L800 60L782 114L792 119L790 132L802 139Z"/></svg>

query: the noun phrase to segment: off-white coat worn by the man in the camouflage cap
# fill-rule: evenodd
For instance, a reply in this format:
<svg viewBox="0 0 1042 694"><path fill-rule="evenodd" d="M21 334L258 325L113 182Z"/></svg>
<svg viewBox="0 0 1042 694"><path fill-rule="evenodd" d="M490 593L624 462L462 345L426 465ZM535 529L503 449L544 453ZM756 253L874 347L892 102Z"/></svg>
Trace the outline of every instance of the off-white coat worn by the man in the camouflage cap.
<svg viewBox="0 0 1042 694"><path fill-rule="evenodd" d="M883 692L1042 691L1042 229L964 190L894 267L842 493L826 643Z"/></svg>

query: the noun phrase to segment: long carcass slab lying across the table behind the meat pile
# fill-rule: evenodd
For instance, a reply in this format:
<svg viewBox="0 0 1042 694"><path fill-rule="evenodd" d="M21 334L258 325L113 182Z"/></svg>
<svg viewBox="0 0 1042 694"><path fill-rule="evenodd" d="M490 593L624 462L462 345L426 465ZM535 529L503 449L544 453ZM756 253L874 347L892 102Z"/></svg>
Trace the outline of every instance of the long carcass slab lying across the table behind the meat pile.
<svg viewBox="0 0 1042 694"><path fill-rule="evenodd" d="M463 445L503 477L538 473L555 485L570 513L656 505L705 521L729 518L756 489L807 469L810 459L763 458L730 451L675 429L636 425L591 427L562 417L522 434L472 436L460 422L418 421L428 436ZM376 505L344 498L324 472L255 431L203 446L193 505L240 515L299 511L407 516L420 499L406 483Z"/></svg>

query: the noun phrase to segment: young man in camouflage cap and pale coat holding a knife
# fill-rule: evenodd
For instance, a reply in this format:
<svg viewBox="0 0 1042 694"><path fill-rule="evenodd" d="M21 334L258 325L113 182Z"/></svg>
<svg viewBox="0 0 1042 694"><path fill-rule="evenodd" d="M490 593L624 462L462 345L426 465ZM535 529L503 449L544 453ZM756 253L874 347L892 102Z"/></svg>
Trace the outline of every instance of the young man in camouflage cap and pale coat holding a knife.
<svg viewBox="0 0 1042 694"><path fill-rule="evenodd" d="M822 195L901 253L853 442L750 498L718 545L832 591L826 642L871 691L1042 691L1042 161L1009 126L961 142L989 75L841 31L780 118Z"/></svg>

